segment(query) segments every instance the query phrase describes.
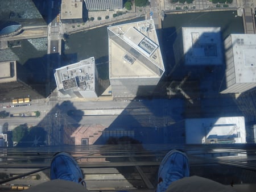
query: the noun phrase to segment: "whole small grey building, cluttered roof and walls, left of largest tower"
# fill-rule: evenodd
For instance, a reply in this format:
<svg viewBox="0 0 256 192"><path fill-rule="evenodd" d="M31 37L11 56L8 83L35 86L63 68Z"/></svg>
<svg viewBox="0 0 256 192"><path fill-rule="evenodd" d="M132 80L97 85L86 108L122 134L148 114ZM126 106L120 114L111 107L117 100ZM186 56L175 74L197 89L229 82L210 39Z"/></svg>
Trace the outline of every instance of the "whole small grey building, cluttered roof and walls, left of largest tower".
<svg viewBox="0 0 256 192"><path fill-rule="evenodd" d="M94 57L55 69L57 89L64 95L97 98L98 72Z"/></svg>

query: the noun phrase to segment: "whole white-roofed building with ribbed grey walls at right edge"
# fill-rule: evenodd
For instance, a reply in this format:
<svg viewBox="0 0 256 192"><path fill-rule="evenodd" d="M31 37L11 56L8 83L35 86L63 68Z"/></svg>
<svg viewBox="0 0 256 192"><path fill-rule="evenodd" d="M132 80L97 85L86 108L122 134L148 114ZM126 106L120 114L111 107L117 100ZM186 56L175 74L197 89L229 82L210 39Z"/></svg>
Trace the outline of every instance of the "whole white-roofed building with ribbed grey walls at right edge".
<svg viewBox="0 0 256 192"><path fill-rule="evenodd" d="M221 93L243 93L256 87L256 35L231 34L224 46L226 85Z"/></svg>

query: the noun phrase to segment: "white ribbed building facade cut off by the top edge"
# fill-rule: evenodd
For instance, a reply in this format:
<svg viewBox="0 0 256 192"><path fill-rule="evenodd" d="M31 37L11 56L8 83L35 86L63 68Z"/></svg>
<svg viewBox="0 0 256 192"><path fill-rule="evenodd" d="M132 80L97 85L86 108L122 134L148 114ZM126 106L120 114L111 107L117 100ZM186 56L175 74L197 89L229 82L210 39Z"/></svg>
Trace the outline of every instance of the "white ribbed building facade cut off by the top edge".
<svg viewBox="0 0 256 192"><path fill-rule="evenodd" d="M122 0L85 0L85 5L89 11L123 9Z"/></svg>

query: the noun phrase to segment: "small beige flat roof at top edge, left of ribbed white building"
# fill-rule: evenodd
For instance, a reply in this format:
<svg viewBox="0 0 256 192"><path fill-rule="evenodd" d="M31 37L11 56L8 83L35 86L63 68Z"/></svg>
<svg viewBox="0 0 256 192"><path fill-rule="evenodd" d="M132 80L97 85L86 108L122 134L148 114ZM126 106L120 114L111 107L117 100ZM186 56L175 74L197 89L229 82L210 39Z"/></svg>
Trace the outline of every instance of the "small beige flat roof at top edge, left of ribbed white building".
<svg viewBox="0 0 256 192"><path fill-rule="evenodd" d="M81 19L82 2L80 0L62 0L60 19Z"/></svg>

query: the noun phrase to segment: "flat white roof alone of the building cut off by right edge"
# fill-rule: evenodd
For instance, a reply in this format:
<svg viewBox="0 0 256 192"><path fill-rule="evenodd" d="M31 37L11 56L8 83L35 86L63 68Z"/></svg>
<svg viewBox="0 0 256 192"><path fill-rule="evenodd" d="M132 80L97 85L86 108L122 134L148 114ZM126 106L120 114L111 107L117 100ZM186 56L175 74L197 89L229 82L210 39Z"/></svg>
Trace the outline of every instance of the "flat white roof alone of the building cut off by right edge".
<svg viewBox="0 0 256 192"><path fill-rule="evenodd" d="M231 34L236 83L256 82L256 34Z"/></svg>

